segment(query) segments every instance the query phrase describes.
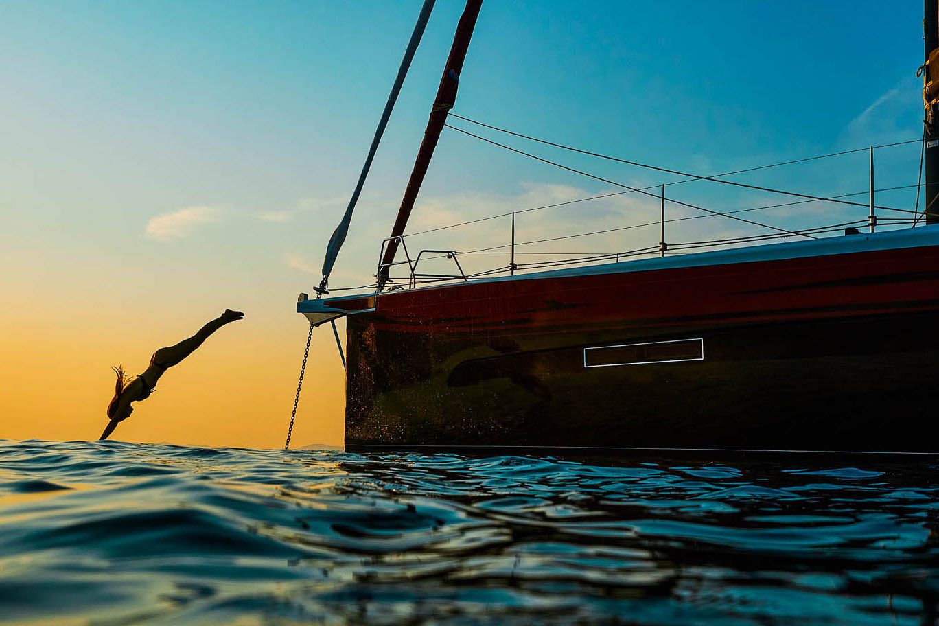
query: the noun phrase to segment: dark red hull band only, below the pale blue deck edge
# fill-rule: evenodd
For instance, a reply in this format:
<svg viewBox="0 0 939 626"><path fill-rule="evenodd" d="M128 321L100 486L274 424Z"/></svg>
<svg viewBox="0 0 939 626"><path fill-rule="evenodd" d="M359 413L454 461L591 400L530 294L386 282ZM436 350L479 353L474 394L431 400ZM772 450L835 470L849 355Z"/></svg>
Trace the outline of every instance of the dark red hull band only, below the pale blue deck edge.
<svg viewBox="0 0 939 626"><path fill-rule="evenodd" d="M910 272L911 267L919 271ZM939 248L527 281L476 282L377 298L377 324L421 331L757 322L929 310ZM428 328L433 327L433 328Z"/></svg>

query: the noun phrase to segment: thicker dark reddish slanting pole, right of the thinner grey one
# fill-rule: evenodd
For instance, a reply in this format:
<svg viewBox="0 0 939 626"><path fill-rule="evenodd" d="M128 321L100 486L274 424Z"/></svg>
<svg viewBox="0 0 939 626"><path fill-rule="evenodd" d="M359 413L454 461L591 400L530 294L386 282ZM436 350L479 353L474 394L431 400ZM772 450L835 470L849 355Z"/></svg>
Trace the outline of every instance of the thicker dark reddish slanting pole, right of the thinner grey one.
<svg viewBox="0 0 939 626"><path fill-rule="evenodd" d="M467 6L463 9L463 15L456 25L454 43L450 48L450 55L447 57L447 63L443 68L443 76L440 78L437 96L434 99L434 107L431 109L430 118L427 120L427 128L423 131L421 147L418 150L417 159L414 160L414 168L411 170L408 187L405 189L401 206L398 208L398 217L394 221L388 247L385 248L381 263L378 266L378 291L381 291L385 282L388 281L390 264L394 261L394 254L398 251L397 237L404 235L411 209L414 208L414 201L417 200L417 194L421 191L423 176L427 174L427 167L434 155L434 148L437 147L440 131L443 130L443 124L447 121L450 110L454 108L460 72L463 70L463 61L466 59L467 49L469 49L469 39L472 38L472 31L482 5L483 0L467 0Z"/></svg>

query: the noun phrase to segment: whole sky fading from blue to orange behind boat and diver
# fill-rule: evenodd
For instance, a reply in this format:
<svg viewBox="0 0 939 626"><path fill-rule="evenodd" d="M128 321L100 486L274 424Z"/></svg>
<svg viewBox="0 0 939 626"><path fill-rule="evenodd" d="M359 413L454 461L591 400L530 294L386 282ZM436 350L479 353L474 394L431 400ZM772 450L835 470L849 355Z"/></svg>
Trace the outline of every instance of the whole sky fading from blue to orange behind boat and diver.
<svg viewBox="0 0 939 626"><path fill-rule="evenodd" d="M114 436L283 446L307 328L295 301L319 280L420 7L3 3L0 438L97 438L111 366L142 372L155 349L228 307L245 319L165 374ZM461 10L437 2L333 286L375 271ZM916 140L921 11L912 0L487 0L454 113L700 175ZM677 179L479 134L623 184ZM880 148L875 160L878 188L916 184L918 144ZM868 177L859 152L735 179L829 196L866 191ZM701 182L668 189L716 210L791 200ZM444 130L408 232L610 191ZM915 197L903 189L877 200L913 208ZM519 215L517 240L636 223L654 218L658 202L627 194L574 207ZM788 228L866 213L809 205L759 215ZM700 220L670 226L669 238L759 232ZM408 245L466 251L507 237L500 219ZM653 240L657 232L638 229L519 252L617 252ZM495 267L496 256L467 264ZM317 329L294 445L341 444L344 402L331 330Z"/></svg>

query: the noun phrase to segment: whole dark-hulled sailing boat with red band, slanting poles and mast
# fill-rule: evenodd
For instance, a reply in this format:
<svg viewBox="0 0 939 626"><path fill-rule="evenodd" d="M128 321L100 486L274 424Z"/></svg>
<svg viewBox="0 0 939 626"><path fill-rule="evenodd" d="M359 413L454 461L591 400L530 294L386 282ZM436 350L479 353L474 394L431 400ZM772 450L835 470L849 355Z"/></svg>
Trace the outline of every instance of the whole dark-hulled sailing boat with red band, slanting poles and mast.
<svg viewBox="0 0 939 626"><path fill-rule="evenodd" d="M654 258L531 273L513 259L505 275L424 284L405 225L480 5L457 27L375 289L331 297L327 283L362 177L318 297L297 304L312 325L346 318L346 449L939 452L925 436L939 405L936 0L925 223L875 232L871 200L869 233L669 256L660 243ZM398 267L408 288L387 289Z"/></svg>

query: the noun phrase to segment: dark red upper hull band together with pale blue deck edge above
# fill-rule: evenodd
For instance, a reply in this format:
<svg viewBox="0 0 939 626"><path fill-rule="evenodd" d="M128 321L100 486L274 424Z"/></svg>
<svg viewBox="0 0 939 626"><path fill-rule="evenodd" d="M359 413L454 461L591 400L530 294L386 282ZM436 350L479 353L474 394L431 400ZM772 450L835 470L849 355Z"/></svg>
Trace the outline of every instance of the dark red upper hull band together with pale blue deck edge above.
<svg viewBox="0 0 939 626"><path fill-rule="evenodd" d="M374 315L377 328L456 333L709 326L930 311L939 307L939 227L461 282L388 292L374 300L327 301L346 310L365 302L375 303L374 313L362 314Z"/></svg>

